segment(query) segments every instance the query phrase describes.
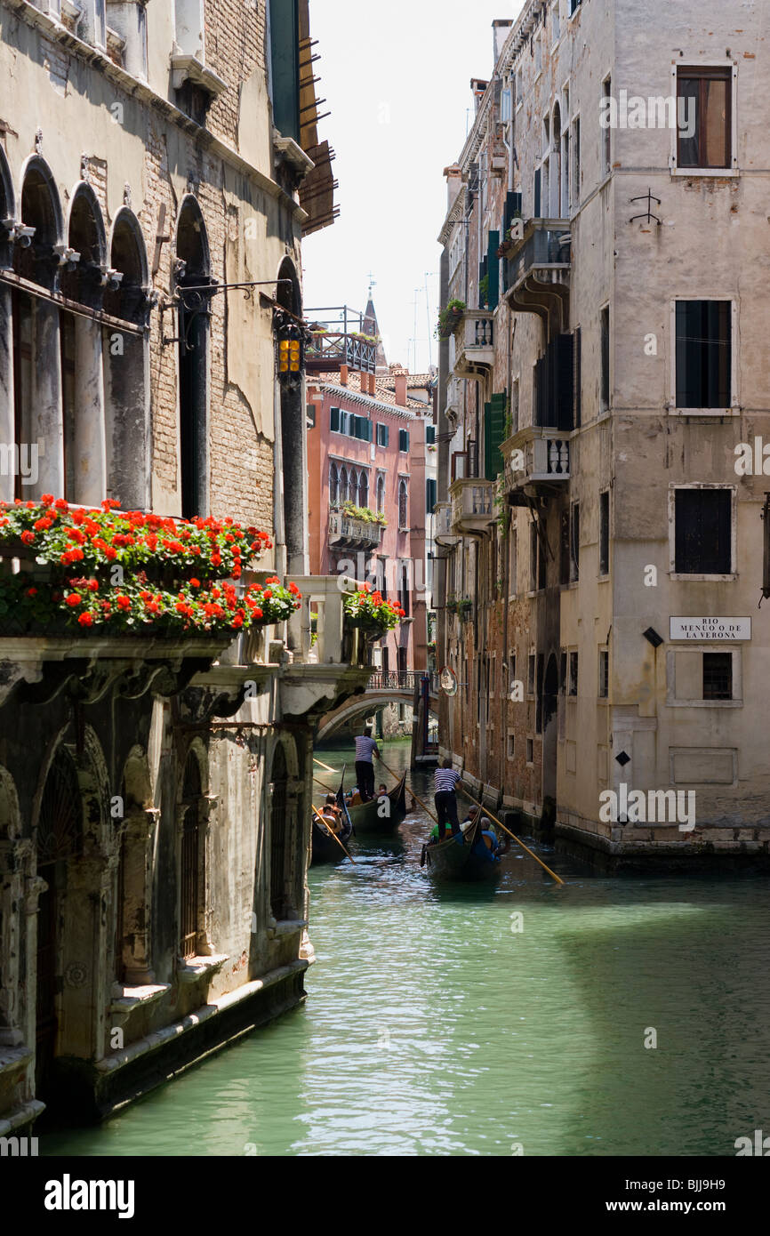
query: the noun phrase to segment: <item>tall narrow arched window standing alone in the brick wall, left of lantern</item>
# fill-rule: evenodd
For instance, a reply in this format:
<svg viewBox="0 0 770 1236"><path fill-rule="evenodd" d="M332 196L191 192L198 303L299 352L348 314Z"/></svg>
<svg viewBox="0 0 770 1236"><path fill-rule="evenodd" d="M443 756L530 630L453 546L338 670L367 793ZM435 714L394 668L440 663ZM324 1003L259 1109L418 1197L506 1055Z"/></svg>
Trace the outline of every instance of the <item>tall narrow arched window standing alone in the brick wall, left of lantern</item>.
<svg viewBox="0 0 770 1236"><path fill-rule="evenodd" d="M182 515L209 509L209 241L200 206L192 194L182 201L177 224L179 289L179 462ZM185 288L204 289L190 290Z"/></svg>

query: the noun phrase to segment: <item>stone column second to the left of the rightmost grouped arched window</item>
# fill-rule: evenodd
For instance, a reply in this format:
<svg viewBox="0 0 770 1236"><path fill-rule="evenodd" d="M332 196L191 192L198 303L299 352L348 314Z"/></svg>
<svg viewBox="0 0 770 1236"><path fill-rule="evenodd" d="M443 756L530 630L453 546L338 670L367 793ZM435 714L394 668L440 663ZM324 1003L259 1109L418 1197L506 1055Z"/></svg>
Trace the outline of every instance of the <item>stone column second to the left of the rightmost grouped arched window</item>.
<svg viewBox="0 0 770 1236"><path fill-rule="evenodd" d="M30 498L64 493L64 421L62 414L62 356L59 310L33 297L32 392L30 446L37 446L37 480L25 486ZM35 475L35 473L32 473Z"/></svg>

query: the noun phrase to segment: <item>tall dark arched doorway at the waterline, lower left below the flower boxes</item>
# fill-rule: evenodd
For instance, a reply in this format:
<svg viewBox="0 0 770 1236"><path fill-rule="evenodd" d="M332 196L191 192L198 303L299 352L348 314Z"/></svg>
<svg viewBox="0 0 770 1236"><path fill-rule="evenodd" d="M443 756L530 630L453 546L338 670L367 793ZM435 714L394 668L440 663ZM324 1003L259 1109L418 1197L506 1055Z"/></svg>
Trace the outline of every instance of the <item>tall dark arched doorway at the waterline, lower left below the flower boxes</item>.
<svg viewBox="0 0 770 1236"><path fill-rule="evenodd" d="M57 1047L61 1012L62 901L68 866L83 847L78 770L66 747L51 761L37 822L37 873L47 889L37 912L36 1093L46 1089Z"/></svg>

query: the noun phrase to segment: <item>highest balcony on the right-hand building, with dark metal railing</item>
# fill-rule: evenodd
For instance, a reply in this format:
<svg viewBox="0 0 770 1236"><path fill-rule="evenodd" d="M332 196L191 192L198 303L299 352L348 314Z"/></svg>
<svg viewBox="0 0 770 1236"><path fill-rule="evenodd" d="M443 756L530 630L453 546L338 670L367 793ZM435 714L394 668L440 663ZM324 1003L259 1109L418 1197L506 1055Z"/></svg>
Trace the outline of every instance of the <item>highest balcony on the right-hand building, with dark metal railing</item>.
<svg viewBox="0 0 770 1236"><path fill-rule="evenodd" d="M508 245L504 287L512 309L541 318L557 310L556 329L567 329L571 245L569 219L528 220L523 239Z"/></svg>

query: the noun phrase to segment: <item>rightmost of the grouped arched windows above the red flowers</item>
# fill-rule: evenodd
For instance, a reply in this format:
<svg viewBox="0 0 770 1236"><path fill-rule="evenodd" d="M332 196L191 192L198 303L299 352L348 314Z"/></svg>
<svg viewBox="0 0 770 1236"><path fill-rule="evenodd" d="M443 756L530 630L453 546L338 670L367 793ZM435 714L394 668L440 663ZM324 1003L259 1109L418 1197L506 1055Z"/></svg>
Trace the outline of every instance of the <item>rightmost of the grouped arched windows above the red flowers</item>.
<svg viewBox="0 0 770 1236"><path fill-rule="evenodd" d="M136 215L121 206L112 225L110 267L120 279L108 284L105 313L136 328L147 321L150 271ZM150 344L141 330L105 328L104 382L109 498L124 509L150 507Z"/></svg>

